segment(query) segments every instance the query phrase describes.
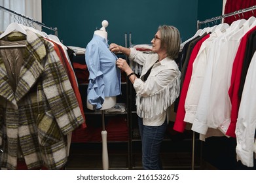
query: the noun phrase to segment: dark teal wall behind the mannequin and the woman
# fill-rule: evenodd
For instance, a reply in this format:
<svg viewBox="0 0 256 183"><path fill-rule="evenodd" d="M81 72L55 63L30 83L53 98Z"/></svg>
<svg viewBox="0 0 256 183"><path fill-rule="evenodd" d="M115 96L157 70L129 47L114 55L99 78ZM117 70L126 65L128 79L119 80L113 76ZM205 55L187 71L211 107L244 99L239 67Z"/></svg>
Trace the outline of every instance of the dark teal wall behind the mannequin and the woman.
<svg viewBox="0 0 256 183"><path fill-rule="evenodd" d="M163 24L177 27L185 41L196 32L198 17L211 18L212 14L221 14L222 0L211 1L210 8L203 2L206 1L42 0L42 22L49 27L58 27L58 37L67 46L85 48L96 27L100 29L102 20L109 22L109 43L124 45L124 33L132 33L134 44L150 44L157 27Z"/></svg>

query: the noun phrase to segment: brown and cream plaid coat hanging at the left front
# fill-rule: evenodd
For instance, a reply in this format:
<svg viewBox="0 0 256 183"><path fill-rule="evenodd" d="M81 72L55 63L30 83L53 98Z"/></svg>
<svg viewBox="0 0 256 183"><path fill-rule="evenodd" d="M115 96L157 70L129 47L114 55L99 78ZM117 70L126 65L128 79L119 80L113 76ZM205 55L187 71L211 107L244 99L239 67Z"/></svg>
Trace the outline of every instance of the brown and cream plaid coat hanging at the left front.
<svg viewBox="0 0 256 183"><path fill-rule="evenodd" d="M29 30L23 38L15 91L0 55L0 167L16 169L20 146L28 169L61 169L67 163L66 135L82 124L81 110L52 45Z"/></svg>

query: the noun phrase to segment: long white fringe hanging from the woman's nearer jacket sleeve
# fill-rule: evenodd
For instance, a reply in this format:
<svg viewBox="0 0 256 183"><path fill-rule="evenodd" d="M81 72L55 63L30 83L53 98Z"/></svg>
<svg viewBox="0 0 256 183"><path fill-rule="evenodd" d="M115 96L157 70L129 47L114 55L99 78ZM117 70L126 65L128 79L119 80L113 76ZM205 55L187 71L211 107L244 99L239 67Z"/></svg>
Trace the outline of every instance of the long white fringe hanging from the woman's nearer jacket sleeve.
<svg viewBox="0 0 256 183"><path fill-rule="evenodd" d="M179 72L179 75L168 86L148 97L142 97L137 93L137 115L140 118L153 118L170 107L175 99L179 97L180 77L181 73Z"/></svg>

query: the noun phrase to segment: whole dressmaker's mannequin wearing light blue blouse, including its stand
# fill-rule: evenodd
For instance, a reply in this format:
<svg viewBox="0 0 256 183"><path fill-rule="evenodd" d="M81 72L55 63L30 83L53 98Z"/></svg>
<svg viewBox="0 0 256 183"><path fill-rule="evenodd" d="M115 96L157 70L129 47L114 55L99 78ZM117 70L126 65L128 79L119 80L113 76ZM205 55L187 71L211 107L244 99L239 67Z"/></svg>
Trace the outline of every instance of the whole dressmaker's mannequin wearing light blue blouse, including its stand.
<svg viewBox="0 0 256 183"><path fill-rule="evenodd" d="M106 170L109 169L109 159L104 112L105 109L115 106L117 103L116 96L120 95L121 92L120 70L115 65L117 57L110 52L107 44L105 27L109 23L107 20L103 20L101 25L100 30L94 31L92 41L86 46L86 65L90 72L86 105L90 110L101 110L102 164L103 169Z"/></svg>

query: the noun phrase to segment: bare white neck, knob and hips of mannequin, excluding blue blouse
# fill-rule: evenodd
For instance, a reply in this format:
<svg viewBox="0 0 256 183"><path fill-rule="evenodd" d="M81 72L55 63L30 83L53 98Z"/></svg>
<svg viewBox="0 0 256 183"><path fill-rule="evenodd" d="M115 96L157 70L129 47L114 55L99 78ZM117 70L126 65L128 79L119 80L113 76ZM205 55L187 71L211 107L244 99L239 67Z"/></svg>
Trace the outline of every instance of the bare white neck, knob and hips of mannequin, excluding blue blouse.
<svg viewBox="0 0 256 183"><path fill-rule="evenodd" d="M94 31L94 35L99 35L100 37L103 37L107 41L107 31L105 28L109 25L109 22L107 22L107 20L103 20L101 22L101 25L102 27L100 28L100 30ZM116 96L105 97L104 102L102 104L102 108L100 110L105 110L107 108L114 107L116 103L117 103ZM93 105L91 105L88 100L86 100L86 105L88 109L94 110Z"/></svg>

